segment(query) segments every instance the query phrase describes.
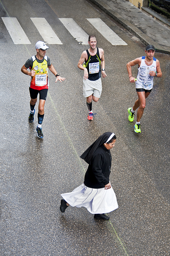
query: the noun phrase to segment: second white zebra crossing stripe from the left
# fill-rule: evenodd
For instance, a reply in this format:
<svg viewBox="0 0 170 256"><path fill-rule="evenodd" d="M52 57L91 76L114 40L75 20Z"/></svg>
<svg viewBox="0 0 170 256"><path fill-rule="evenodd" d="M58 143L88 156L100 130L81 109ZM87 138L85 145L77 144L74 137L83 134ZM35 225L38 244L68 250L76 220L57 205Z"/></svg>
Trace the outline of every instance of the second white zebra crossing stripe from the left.
<svg viewBox="0 0 170 256"><path fill-rule="evenodd" d="M36 26L39 34L48 44L62 44L45 18L30 18Z"/></svg>

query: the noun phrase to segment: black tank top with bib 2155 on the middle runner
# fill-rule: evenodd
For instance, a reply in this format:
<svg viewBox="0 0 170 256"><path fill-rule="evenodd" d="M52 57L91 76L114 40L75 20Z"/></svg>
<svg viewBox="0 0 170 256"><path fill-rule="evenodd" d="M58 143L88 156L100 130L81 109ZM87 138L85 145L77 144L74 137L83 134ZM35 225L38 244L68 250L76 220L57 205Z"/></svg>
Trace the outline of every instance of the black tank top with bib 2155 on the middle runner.
<svg viewBox="0 0 170 256"><path fill-rule="evenodd" d="M88 50L86 50L86 52L88 57L85 63L88 70L88 79L91 81L95 81L101 78L101 58L99 50L97 47L97 53L94 56L91 56Z"/></svg>

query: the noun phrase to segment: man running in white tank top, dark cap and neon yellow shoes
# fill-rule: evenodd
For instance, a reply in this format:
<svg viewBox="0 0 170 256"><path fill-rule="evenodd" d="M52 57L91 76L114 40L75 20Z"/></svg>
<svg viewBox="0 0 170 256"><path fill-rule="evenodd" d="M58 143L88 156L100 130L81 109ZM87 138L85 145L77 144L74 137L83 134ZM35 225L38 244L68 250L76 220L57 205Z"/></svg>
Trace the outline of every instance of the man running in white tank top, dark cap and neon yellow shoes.
<svg viewBox="0 0 170 256"><path fill-rule="evenodd" d="M143 115L143 111L146 105L146 98L149 96L153 87L153 78L162 77L161 67L159 60L155 59L154 56L155 48L153 45L146 46L145 54L146 56L137 58L133 61L128 62L126 65L129 79L131 83L136 81L136 91L138 94L138 100L135 102L133 108L128 108L128 119L130 122L134 120L135 110L137 111L137 122L134 125L135 132L141 132L140 120ZM133 66L138 64L138 75L137 79L132 76Z"/></svg>

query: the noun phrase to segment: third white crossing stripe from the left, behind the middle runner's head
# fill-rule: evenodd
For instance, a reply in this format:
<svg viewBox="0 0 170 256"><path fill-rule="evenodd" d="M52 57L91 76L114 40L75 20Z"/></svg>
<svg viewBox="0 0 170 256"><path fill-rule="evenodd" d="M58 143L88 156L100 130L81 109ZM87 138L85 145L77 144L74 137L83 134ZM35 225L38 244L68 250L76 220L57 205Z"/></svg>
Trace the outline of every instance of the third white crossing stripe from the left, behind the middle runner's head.
<svg viewBox="0 0 170 256"><path fill-rule="evenodd" d="M72 18L59 19L69 33L79 42L79 44L88 44L88 35Z"/></svg>

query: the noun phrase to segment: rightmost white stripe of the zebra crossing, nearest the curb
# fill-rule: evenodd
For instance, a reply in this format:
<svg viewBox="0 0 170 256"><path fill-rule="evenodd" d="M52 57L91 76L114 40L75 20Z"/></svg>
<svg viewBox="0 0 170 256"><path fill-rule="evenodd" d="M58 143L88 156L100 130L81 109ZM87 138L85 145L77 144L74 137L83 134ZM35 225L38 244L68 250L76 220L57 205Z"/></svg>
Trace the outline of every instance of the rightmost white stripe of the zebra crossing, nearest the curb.
<svg viewBox="0 0 170 256"><path fill-rule="evenodd" d="M128 45L100 18L87 19L112 45Z"/></svg>

